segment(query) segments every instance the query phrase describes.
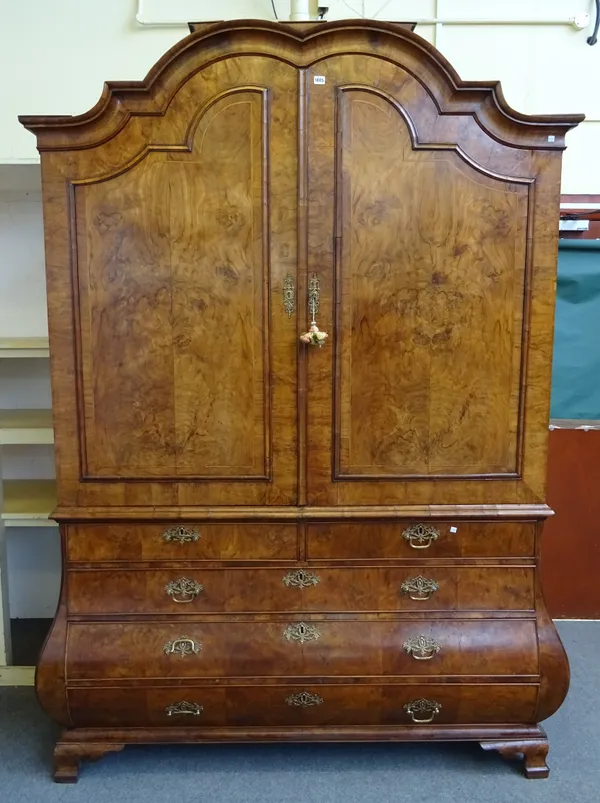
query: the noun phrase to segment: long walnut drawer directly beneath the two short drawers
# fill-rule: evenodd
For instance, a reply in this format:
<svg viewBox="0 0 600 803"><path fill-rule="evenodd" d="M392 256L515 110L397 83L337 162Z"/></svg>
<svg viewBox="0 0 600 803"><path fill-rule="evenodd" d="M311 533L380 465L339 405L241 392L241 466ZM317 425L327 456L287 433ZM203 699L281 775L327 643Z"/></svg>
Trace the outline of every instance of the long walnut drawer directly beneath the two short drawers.
<svg viewBox="0 0 600 803"><path fill-rule="evenodd" d="M533 568L70 569L69 613L530 610Z"/></svg>

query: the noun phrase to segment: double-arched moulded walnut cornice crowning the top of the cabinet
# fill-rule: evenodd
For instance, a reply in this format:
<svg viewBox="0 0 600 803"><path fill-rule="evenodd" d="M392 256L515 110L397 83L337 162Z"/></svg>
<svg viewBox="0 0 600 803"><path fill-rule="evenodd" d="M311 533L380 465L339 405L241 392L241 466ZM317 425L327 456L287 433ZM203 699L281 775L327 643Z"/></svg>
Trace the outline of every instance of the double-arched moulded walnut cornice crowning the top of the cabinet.
<svg viewBox="0 0 600 803"><path fill-rule="evenodd" d="M342 20L312 25L231 20L197 26L172 47L143 81L112 81L96 105L77 116L20 116L40 151L95 147L132 116L163 115L173 97L203 67L229 55L264 55L309 67L334 55L362 53L410 72L427 88L442 115L470 115L511 147L562 150L583 115L525 115L512 109L499 82L462 81L449 62L406 23Z"/></svg>

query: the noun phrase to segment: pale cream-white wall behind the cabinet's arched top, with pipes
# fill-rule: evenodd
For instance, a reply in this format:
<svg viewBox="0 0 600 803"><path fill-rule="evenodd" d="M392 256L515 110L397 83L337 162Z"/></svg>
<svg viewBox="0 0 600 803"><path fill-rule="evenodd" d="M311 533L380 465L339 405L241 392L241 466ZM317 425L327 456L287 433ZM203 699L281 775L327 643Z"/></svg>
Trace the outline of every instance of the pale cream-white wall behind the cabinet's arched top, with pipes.
<svg viewBox="0 0 600 803"><path fill-rule="evenodd" d="M328 19L490 18L569 19L591 12L593 0L323 0ZM286 0L276 0L282 18ZM78 114L98 99L110 79L143 78L163 52L187 34L178 27L136 22L137 0L0 0L0 162L37 158L34 138L18 114ZM146 19L273 18L270 0L144 0ZM509 103L531 113L585 112L569 136L563 192L597 193L600 160L600 44L591 27L567 25L420 25L465 79L500 79ZM10 76L10 80L6 78Z"/></svg>

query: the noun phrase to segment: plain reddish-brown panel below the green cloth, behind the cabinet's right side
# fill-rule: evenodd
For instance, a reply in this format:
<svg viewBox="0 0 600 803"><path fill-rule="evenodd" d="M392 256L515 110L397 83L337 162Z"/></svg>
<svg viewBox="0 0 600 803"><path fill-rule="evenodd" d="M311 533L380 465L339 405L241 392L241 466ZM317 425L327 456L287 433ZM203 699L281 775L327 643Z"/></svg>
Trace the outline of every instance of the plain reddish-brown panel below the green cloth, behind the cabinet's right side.
<svg viewBox="0 0 600 803"><path fill-rule="evenodd" d="M600 432L550 433L542 588L551 616L600 619Z"/></svg>

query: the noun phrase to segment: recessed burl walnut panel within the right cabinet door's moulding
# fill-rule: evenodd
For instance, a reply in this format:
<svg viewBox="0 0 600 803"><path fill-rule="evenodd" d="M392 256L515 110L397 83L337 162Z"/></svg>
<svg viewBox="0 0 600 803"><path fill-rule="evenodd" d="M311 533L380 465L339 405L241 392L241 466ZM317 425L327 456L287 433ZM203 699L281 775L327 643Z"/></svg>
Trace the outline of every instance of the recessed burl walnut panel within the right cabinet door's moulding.
<svg viewBox="0 0 600 803"><path fill-rule="evenodd" d="M516 474L527 186L416 150L402 89L337 107L337 478Z"/></svg>

